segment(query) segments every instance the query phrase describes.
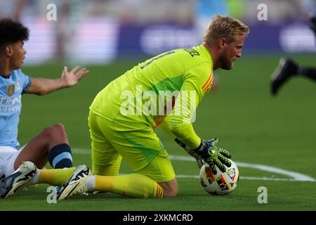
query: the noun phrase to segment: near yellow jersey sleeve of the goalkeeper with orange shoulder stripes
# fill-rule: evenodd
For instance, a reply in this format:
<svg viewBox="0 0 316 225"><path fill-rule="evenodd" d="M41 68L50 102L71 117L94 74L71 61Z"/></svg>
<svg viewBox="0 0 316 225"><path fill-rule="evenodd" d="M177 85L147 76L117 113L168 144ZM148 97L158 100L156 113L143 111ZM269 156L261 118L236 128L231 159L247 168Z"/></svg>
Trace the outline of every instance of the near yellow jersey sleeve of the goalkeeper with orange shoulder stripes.
<svg viewBox="0 0 316 225"><path fill-rule="evenodd" d="M192 149L201 143L192 122L195 122L197 106L211 88L212 82L213 73L209 63L201 63L187 69L173 111L166 120L171 133Z"/></svg>

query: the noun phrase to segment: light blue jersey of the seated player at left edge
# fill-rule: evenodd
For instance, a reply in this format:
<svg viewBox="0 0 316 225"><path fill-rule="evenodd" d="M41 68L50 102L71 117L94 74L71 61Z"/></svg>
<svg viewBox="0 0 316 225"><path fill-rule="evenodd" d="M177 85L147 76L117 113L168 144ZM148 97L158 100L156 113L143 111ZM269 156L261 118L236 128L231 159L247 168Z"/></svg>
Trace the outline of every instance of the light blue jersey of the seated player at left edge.
<svg viewBox="0 0 316 225"><path fill-rule="evenodd" d="M10 77L0 76L0 146L18 149L18 123L21 112L21 95L27 91L31 78L20 69Z"/></svg>

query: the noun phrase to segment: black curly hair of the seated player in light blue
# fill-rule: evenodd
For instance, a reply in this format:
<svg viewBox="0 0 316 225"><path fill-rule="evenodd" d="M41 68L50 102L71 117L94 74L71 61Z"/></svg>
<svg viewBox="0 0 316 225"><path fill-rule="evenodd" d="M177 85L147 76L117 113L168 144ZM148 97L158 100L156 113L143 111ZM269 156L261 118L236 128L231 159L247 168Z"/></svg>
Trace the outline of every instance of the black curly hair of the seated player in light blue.
<svg viewBox="0 0 316 225"><path fill-rule="evenodd" d="M17 41L27 41L29 39L29 29L20 22L15 22L9 18L0 20L0 47L4 44L11 44Z"/></svg>

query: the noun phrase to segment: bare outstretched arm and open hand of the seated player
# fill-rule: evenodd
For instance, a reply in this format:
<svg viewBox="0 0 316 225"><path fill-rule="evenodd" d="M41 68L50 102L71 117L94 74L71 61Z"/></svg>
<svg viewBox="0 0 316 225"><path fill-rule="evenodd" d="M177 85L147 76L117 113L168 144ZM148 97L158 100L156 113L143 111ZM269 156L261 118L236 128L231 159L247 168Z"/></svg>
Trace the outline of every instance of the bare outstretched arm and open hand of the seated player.
<svg viewBox="0 0 316 225"><path fill-rule="evenodd" d="M41 96L58 89L74 86L89 72L86 68L78 70L79 66L76 66L68 72L67 67L65 67L59 79L32 78L32 82L26 93Z"/></svg>

